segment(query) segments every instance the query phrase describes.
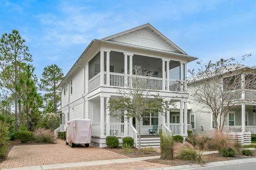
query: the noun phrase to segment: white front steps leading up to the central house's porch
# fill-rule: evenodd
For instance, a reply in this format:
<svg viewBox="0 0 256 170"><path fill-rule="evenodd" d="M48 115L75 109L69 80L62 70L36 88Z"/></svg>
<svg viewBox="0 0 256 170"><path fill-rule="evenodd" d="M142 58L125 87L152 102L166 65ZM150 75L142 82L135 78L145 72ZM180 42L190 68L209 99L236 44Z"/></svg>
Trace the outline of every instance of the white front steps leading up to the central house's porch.
<svg viewBox="0 0 256 170"><path fill-rule="evenodd" d="M139 139L137 141L137 145L139 145ZM159 136L141 136L140 139L141 147L160 147L160 137Z"/></svg>

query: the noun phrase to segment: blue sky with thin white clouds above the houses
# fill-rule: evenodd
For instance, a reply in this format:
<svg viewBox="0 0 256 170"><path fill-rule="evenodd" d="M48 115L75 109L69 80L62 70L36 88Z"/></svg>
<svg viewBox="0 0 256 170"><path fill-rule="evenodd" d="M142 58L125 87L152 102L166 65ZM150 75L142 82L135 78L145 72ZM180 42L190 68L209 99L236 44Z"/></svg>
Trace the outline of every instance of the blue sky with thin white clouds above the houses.
<svg viewBox="0 0 256 170"><path fill-rule="evenodd" d="M38 77L53 63L66 75L92 39L147 22L199 60L252 53L255 64L256 1L0 0L0 34L20 31Z"/></svg>

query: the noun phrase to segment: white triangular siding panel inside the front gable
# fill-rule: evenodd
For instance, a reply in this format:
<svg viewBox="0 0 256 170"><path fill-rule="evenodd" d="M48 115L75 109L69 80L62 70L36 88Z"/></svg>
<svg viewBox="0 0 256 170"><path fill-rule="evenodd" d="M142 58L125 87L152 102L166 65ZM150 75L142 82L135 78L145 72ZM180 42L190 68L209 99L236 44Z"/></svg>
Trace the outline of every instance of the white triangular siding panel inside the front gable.
<svg viewBox="0 0 256 170"><path fill-rule="evenodd" d="M152 34L152 31L149 28L143 28L129 34L116 37L113 40L116 42L156 48L159 50L175 51L174 48L167 42L164 42L161 37L158 37L156 34Z"/></svg>

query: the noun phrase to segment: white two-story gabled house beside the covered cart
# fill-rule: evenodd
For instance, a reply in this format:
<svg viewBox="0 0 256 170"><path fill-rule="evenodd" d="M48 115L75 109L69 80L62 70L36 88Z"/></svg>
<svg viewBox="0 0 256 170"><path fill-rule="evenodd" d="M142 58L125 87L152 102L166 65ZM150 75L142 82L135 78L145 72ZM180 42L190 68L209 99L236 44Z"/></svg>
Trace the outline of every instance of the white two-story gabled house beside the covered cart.
<svg viewBox="0 0 256 170"><path fill-rule="evenodd" d="M149 23L94 39L59 85L61 126L57 130L63 131L68 120L89 118L92 120L92 144L105 147L109 135L119 139L131 136L137 141L138 120L111 117L107 107L110 98L120 95L118 89L124 88L125 77L133 77L132 69L137 65L154 70L154 77L141 77L154 82L154 90L149 89L152 93L181 106L174 110L174 119L170 111L166 115L150 114L143 118L141 135L149 135L148 129L158 125L158 129L165 126L174 134L187 136L187 63L196 59Z"/></svg>

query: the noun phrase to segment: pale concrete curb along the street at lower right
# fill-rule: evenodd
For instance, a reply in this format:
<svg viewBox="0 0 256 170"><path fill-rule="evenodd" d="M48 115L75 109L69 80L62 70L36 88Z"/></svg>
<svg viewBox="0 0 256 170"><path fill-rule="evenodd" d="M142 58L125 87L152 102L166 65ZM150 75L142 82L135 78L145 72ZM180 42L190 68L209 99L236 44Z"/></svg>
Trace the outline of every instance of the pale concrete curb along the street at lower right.
<svg viewBox="0 0 256 170"><path fill-rule="evenodd" d="M216 161L216 162L212 162L212 163L206 163L203 166L198 165L198 164L191 164L191 165L179 165L179 166L166 166L166 167L162 167L162 168L149 168L149 169L145 169L145 170L195 169L195 168L218 167L218 166L227 166L227 165L254 163L254 162L256 162L256 158L245 158L245 159Z"/></svg>

